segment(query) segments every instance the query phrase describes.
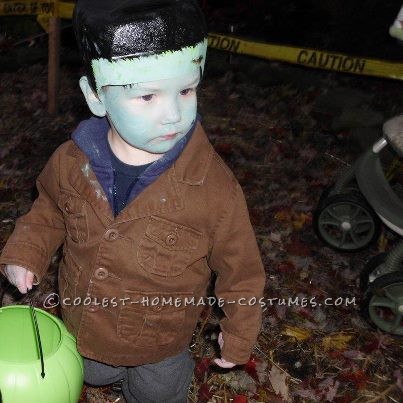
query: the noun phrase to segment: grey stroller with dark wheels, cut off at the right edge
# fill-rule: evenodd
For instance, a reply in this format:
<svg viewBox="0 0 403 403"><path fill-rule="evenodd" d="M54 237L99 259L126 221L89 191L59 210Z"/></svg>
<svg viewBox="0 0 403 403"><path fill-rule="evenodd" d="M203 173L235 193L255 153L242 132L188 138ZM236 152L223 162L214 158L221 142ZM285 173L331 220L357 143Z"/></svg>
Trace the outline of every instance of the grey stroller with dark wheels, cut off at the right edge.
<svg viewBox="0 0 403 403"><path fill-rule="evenodd" d="M349 167L321 196L313 225L318 237L342 252L375 242L383 223L403 236L403 199L387 180L380 154L387 146L403 157L403 116L383 125L383 137ZM372 324L403 336L403 240L374 256L360 275L362 313Z"/></svg>

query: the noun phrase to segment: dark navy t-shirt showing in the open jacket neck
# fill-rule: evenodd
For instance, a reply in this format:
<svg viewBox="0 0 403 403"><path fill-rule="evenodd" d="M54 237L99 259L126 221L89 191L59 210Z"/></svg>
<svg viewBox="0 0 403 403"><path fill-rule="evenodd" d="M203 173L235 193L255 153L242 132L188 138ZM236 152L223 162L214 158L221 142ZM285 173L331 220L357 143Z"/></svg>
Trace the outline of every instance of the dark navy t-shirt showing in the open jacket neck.
<svg viewBox="0 0 403 403"><path fill-rule="evenodd" d="M127 198L137 182L137 178L149 167L152 162L145 165L129 165L122 162L113 153L108 142L113 168L113 212L115 217L125 208Z"/></svg>

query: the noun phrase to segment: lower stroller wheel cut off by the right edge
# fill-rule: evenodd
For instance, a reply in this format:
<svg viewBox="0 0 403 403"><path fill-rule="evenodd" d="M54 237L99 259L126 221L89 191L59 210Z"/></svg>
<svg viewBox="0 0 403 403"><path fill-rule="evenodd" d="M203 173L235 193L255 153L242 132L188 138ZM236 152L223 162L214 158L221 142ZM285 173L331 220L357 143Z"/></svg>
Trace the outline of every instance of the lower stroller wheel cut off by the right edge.
<svg viewBox="0 0 403 403"><path fill-rule="evenodd" d="M403 272L375 279L364 294L361 311L384 332L403 336Z"/></svg>

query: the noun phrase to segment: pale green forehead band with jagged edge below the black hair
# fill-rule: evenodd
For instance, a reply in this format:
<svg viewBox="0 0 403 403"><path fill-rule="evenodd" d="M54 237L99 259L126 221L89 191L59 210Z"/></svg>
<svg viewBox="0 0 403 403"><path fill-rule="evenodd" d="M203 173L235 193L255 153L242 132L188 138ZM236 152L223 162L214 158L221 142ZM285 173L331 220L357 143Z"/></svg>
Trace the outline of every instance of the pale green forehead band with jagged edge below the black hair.
<svg viewBox="0 0 403 403"><path fill-rule="evenodd" d="M126 55L125 58L94 59L92 69L97 92L107 85L127 85L184 77L204 70L207 39L195 46L156 55Z"/></svg>

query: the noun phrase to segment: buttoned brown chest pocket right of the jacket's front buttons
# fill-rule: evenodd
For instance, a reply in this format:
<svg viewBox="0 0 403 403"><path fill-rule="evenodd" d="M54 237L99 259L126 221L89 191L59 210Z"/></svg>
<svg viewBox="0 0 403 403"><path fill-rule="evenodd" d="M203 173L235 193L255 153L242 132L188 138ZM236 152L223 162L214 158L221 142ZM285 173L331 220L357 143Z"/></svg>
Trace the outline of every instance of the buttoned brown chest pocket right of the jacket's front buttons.
<svg viewBox="0 0 403 403"><path fill-rule="evenodd" d="M158 276L179 276L192 262L202 234L162 218L151 217L137 251L141 267Z"/></svg>

